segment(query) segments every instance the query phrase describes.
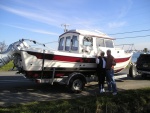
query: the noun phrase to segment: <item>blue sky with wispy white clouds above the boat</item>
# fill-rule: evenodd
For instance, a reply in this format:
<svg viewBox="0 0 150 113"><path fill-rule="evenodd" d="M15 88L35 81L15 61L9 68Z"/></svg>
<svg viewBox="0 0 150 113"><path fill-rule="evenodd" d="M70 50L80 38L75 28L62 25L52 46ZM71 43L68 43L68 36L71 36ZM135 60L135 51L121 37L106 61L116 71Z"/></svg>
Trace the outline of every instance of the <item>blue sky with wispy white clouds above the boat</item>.
<svg viewBox="0 0 150 113"><path fill-rule="evenodd" d="M104 32L116 38L115 45L150 50L150 0L0 0L0 42L7 45L22 38L58 41L62 24L69 30Z"/></svg>

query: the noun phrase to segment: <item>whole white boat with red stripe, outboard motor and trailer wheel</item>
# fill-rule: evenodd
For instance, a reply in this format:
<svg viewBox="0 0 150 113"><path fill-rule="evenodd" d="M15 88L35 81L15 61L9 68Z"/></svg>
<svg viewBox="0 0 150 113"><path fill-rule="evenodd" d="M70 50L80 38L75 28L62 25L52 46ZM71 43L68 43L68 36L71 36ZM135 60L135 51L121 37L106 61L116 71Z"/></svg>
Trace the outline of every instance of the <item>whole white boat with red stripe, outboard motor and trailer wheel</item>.
<svg viewBox="0 0 150 113"><path fill-rule="evenodd" d="M118 73L129 64L133 53L115 48L114 39L104 33L86 30L69 30L60 35L57 51L33 48L20 40L0 54L0 66L14 56L15 65L27 78L38 83L59 82L78 92L87 82L96 80L95 54L106 53L108 49L115 58L114 70Z"/></svg>

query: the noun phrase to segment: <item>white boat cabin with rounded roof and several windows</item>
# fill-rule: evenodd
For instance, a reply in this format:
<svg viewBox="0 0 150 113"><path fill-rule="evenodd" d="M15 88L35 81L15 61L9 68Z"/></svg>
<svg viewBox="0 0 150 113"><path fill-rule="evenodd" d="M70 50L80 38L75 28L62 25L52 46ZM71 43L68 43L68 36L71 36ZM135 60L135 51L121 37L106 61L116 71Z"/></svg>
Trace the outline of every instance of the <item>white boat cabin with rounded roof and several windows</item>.
<svg viewBox="0 0 150 113"><path fill-rule="evenodd" d="M114 48L114 39L104 33L85 30L69 30L59 36L58 51L94 54L97 51Z"/></svg>

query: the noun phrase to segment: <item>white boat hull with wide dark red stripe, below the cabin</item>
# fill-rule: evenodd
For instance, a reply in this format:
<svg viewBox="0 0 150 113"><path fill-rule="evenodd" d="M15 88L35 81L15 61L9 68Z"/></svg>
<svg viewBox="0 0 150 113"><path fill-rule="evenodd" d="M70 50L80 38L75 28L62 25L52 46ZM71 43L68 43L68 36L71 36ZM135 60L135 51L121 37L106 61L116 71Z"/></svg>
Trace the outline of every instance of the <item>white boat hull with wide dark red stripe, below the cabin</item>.
<svg viewBox="0 0 150 113"><path fill-rule="evenodd" d="M76 57L75 57L76 56ZM55 76L67 76L72 72L81 72L86 75L94 75L97 64L95 57L82 57L82 54L66 53L65 52L46 52L42 51L21 51L22 67L27 77L40 78L41 75L46 78L51 78L53 69L55 68ZM115 72L123 70L131 60L131 54L125 58L115 58Z"/></svg>

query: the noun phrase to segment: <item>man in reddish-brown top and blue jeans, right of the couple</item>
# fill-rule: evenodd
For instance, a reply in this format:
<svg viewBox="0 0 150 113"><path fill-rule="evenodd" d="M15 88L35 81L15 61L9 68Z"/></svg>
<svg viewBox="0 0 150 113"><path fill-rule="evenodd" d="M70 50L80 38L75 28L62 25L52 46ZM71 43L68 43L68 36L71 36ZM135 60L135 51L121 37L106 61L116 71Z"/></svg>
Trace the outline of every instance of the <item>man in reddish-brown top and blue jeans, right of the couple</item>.
<svg viewBox="0 0 150 113"><path fill-rule="evenodd" d="M106 76L108 82L108 90L113 91L113 95L117 94L116 82L114 79L114 66L116 65L114 57L111 55L111 50L107 50L106 58Z"/></svg>

